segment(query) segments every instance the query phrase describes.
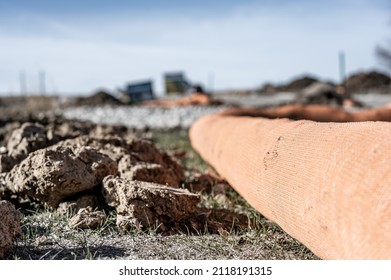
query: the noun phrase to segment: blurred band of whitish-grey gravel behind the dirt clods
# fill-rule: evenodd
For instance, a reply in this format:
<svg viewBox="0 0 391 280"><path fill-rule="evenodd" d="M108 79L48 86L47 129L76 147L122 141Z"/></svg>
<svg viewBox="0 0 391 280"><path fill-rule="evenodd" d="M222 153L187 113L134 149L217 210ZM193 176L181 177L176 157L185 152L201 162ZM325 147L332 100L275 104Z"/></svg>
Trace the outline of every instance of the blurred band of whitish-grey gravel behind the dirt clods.
<svg viewBox="0 0 391 280"><path fill-rule="evenodd" d="M227 109L227 106L159 107L78 107L62 111L65 118L99 124L125 125L144 129L188 128L199 117Z"/></svg>

